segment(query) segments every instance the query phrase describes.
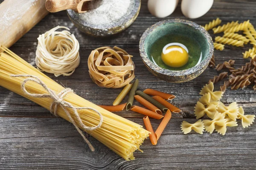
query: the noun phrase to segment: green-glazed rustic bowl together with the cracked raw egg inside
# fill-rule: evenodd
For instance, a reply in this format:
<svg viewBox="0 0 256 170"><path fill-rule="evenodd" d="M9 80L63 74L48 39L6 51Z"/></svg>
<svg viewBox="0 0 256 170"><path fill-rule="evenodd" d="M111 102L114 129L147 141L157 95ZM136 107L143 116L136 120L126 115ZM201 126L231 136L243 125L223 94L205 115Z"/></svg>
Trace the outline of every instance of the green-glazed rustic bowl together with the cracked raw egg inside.
<svg viewBox="0 0 256 170"><path fill-rule="evenodd" d="M187 20L163 20L140 39L140 56L148 70L168 82L198 77L209 64L214 47L209 33Z"/></svg>

